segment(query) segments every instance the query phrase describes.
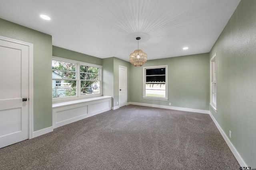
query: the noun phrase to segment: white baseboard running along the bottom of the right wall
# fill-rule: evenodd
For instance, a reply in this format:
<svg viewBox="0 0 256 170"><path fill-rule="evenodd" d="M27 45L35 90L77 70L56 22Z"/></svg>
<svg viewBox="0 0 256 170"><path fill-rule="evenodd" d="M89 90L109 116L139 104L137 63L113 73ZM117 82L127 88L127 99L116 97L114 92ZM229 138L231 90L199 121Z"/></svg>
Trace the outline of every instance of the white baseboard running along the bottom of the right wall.
<svg viewBox="0 0 256 170"><path fill-rule="evenodd" d="M216 121L216 119L213 117L212 113L209 111L209 115L212 118L212 121L215 123L215 125L217 126L218 130L220 131L220 134L222 135L222 137L224 138L224 140L226 141L228 147L230 148L231 152L234 154L236 160L238 161L238 163L240 164L241 167L247 167L246 163L244 162L243 158L241 157L241 155L238 153L238 151L236 150L236 148L234 147L234 145L231 143L231 141L228 139L228 136L226 135L226 133L224 133L224 131L222 130L222 128L220 127L219 123Z"/></svg>

